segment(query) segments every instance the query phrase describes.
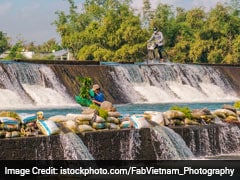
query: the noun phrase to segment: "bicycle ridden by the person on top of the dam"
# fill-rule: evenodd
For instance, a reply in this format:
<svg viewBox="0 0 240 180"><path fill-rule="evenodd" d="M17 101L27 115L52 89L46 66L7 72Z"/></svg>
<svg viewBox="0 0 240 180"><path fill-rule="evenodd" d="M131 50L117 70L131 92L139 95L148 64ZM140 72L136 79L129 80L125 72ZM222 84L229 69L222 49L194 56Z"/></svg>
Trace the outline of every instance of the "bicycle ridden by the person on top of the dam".
<svg viewBox="0 0 240 180"><path fill-rule="evenodd" d="M147 64L149 60L159 60L160 61L160 57L158 54L158 49L156 48L156 44L155 42L148 42L147 43L147 50L148 50L148 54L147 54ZM161 50L162 52L162 57L163 57L163 62L170 62L169 58L168 58L168 53L162 48Z"/></svg>

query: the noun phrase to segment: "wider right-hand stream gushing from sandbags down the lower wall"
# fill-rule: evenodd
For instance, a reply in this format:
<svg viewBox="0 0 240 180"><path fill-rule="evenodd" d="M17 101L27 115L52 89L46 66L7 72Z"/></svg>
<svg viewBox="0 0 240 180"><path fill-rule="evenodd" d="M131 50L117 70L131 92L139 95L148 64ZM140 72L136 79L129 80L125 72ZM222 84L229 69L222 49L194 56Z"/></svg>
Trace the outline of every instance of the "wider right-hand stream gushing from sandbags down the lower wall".
<svg viewBox="0 0 240 180"><path fill-rule="evenodd" d="M157 160L191 159L193 154L180 135L164 126L151 129L152 143Z"/></svg>

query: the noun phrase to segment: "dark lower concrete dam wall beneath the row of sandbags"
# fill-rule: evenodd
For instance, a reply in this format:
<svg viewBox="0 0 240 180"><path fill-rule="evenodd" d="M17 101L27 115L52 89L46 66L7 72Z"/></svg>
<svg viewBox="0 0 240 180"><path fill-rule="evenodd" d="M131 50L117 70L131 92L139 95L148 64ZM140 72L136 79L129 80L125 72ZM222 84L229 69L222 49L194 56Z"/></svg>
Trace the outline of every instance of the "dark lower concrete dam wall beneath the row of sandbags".
<svg viewBox="0 0 240 180"><path fill-rule="evenodd" d="M173 128L180 134L195 157L205 157L222 153L233 153L240 148L240 129L236 125L188 126ZM76 144L71 144L71 151L63 135L29 138L1 139L1 160L177 160L169 147L163 146L160 139L155 139L150 128L140 130L125 129L97 131L78 134ZM183 149L180 148L181 151ZM77 151L77 152L76 152ZM69 155L67 155L67 153ZM165 153L164 153L165 152ZM74 156L75 154L78 154ZM190 157L192 158L192 157ZM187 158L185 158L187 159Z"/></svg>

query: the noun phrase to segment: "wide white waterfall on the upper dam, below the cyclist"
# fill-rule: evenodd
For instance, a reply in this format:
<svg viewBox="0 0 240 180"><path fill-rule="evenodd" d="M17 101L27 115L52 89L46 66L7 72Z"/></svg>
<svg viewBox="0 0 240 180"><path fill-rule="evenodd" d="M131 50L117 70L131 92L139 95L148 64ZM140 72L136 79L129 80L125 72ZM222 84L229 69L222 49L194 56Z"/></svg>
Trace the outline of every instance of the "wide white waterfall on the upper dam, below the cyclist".
<svg viewBox="0 0 240 180"><path fill-rule="evenodd" d="M111 75L132 103L224 102L239 98L230 80L210 66L121 65L115 66Z"/></svg>

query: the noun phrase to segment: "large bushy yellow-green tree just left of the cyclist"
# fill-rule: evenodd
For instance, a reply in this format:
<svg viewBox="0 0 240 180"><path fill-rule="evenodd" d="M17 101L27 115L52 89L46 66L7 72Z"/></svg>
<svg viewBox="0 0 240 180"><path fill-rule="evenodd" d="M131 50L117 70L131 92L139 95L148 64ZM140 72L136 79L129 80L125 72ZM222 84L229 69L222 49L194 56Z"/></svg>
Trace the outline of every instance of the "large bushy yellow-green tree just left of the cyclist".
<svg viewBox="0 0 240 180"><path fill-rule="evenodd" d="M147 31L129 0L87 0L80 13L74 1L69 3L70 14L57 12L55 25L63 47L76 59L134 61L144 56Z"/></svg>

